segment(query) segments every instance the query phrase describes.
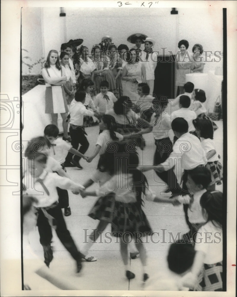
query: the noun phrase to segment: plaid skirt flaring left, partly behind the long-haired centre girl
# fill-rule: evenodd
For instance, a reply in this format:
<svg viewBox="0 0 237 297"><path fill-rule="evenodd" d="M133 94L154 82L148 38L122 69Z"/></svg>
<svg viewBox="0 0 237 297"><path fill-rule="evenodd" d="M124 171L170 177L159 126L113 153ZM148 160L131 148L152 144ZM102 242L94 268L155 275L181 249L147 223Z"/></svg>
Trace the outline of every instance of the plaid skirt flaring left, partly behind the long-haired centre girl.
<svg viewBox="0 0 237 297"><path fill-rule="evenodd" d="M88 216L94 220L112 223L115 200L113 196L102 196L98 198L94 206L91 208Z"/></svg>

